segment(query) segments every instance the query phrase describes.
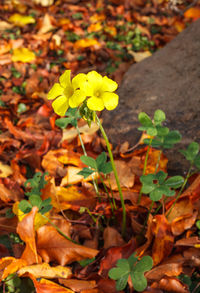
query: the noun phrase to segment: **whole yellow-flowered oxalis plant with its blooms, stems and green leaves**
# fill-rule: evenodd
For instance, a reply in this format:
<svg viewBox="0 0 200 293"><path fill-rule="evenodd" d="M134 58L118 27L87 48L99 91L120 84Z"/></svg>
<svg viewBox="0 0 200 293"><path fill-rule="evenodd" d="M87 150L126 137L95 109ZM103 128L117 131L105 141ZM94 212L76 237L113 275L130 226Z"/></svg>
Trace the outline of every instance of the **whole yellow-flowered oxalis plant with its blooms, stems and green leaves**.
<svg viewBox="0 0 200 293"><path fill-rule="evenodd" d="M98 186L93 173L98 172L103 182L101 173L106 175L113 171L121 200L122 235L124 236L126 231L126 209L124 198L110 143L101 121L96 114L96 111L102 111L104 108L107 110L113 110L117 107L119 97L114 91L117 89L118 85L112 79L107 76L102 77L96 71L91 71L88 74L79 73L72 80L70 79L70 73L70 70L66 70L60 76L59 83L55 83L49 91L48 99L53 100L52 107L54 112L60 116L65 116L69 108L76 109L74 112L73 110L68 111L66 114L67 117L64 120L57 121L57 125L61 124L66 127L70 123L76 127L84 152L84 156L81 157L81 160L88 165L88 168L83 169L79 174L83 175L85 178L92 175L93 184L98 196ZM79 117L85 119L89 126L92 121L97 123L106 142L110 159L109 162L107 162L107 156L105 153L101 154L96 160L88 157L77 124L77 118ZM105 184L103 185L108 194ZM114 207L116 207L114 199L112 198L111 201L109 197L109 200L113 210Z"/></svg>

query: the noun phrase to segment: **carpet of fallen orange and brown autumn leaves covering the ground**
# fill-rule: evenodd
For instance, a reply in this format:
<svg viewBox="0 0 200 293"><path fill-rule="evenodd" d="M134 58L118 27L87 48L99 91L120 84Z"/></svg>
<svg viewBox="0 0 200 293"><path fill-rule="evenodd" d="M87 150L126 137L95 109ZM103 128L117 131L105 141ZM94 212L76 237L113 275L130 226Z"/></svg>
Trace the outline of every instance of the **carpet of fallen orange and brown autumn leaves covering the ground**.
<svg viewBox="0 0 200 293"><path fill-rule="evenodd" d="M114 293L117 289L109 271L120 270L120 259L126 259L128 268L129 258L133 261L136 253L135 259L150 255L154 263L145 273L148 286L143 292L192 292L181 276L191 280L200 263L195 224L200 177L192 178L169 215L164 211L154 215L154 203L143 230L151 201L143 194L140 205L137 202L147 148L139 143L139 148L127 153L127 145L118 146L115 161L128 222L123 239L115 181L112 176L105 181L117 205L114 220L103 189L99 202L91 178L77 175L84 167L77 131L57 127L58 117L47 92L65 69L73 75L98 70L120 83L131 64L152 55L199 18L199 4L180 1L174 6L173 1L162 0L4 2L0 4L1 281L9 284L19 277L29 278L36 292ZM105 142L95 126L88 128L84 121L79 124L87 152L96 158L105 151ZM158 156L157 150L150 151L147 174L154 172ZM163 154L158 171L167 171ZM53 210L45 215L69 239L48 221L44 223L36 207L23 218L16 212L26 198L24 183L37 172L48 172L38 191L43 201L51 198ZM168 200L166 210L172 204ZM134 292L129 273L136 277L127 269L130 291L119 285L121 292Z"/></svg>

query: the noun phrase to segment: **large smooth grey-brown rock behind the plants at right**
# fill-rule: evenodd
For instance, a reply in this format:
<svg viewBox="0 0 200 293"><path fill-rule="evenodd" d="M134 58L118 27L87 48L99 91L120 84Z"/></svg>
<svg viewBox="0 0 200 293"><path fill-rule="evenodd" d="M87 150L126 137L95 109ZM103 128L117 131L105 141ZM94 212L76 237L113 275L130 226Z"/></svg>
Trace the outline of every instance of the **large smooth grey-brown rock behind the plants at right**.
<svg viewBox="0 0 200 293"><path fill-rule="evenodd" d="M172 173L187 170L178 149L200 142L200 19L192 23L164 48L126 72L118 90L119 106L103 112L103 125L114 145L137 143L141 132L138 114L153 117L156 109L166 113L166 126L179 130L183 139L167 151Z"/></svg>

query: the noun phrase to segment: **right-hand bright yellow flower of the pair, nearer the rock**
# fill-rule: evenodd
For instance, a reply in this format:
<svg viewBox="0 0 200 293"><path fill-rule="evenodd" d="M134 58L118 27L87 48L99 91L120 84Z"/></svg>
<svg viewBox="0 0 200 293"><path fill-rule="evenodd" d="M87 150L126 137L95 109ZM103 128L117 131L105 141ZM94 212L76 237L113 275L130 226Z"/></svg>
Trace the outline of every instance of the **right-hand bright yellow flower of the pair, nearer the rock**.
<svg viewBox="0 0 200 293"><path fill-rule="evenodd" d="M96 71L89 72L87 80L87 106L90 110L101 111L104 107L113 110L117 107L119 96L113 93L118 86L115 81L107 76L102 77Z"/></svg>

